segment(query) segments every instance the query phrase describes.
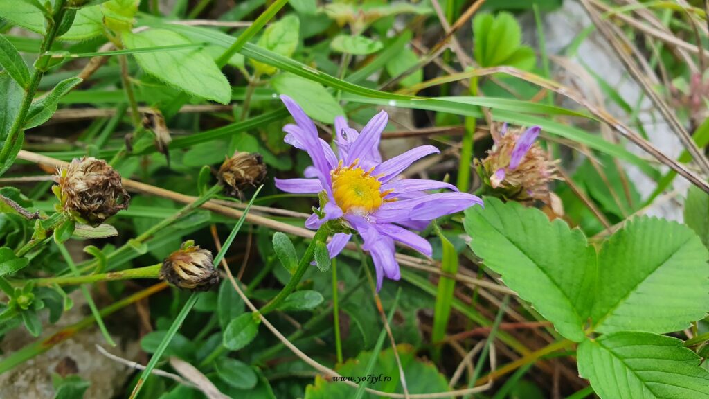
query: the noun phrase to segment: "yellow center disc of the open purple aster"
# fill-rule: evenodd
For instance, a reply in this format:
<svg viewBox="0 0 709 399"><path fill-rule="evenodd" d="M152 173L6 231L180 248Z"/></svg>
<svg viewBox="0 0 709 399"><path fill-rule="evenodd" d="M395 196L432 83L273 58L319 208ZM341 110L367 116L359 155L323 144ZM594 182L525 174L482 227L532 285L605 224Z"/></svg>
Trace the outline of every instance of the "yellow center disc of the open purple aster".
<svg viewBox="0 0 709 399"><path fill-rule="evenodd" d="M354 160L347 168L340 165L331 172L333 177L333 197L342 212L370 213L378 209L393 190L381 192L381 182L372 176L374 168L367 170L357 166L359 160Z"/></svg>

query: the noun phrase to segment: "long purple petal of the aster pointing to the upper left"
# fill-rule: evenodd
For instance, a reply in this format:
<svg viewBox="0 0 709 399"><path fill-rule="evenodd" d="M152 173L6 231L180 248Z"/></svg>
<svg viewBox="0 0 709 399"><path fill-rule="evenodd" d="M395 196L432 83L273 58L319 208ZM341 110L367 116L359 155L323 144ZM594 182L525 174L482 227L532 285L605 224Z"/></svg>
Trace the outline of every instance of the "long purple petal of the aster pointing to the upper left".
<svg viewBox="0 0 709 399"><path fill-rule="evenodd" d="M328 191L328 194L332 192L332 187L330 187L330 161L328 160L328 155L325 155L325 150L323 144L320 143L320 138L318 138L318 129L316 129L315 124L310 118L303 112L303 109L291 99L291 97L281 95L281 100L286 104L286 108L293 116L293 119L298 124L300 129L289 129L287 133L290 133L297 143L303 145L303 149L308 152L313 160L313 165L320 171L320 181L323 182L323 187ZM328 146L329 148L329 146ZM330 153L332 150L329 149ZM335 158L335 154L332 154L331 158ZM330 159L331 159L330 158Z"/></svg>

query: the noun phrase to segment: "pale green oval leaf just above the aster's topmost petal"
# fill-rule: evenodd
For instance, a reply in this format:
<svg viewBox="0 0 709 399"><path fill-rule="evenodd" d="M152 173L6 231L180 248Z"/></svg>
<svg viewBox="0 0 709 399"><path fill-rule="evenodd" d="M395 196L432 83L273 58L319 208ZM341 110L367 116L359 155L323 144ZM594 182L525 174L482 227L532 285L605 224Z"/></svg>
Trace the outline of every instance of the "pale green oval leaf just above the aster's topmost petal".
<svg viewBox="0 0 709 399"><path fill-rule="evenodd" d="M286 94L301 104L303 111L313 119L325 124L333 124L335 116L345 115L345 110L337 103L333 94L330 94L320 83L290 73L282 73L274 76L271 84L279 94Z"/></svg>

